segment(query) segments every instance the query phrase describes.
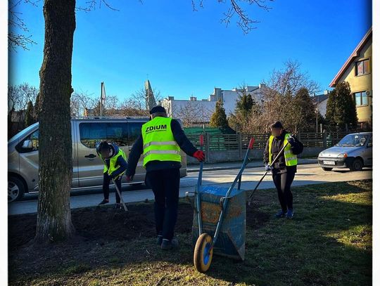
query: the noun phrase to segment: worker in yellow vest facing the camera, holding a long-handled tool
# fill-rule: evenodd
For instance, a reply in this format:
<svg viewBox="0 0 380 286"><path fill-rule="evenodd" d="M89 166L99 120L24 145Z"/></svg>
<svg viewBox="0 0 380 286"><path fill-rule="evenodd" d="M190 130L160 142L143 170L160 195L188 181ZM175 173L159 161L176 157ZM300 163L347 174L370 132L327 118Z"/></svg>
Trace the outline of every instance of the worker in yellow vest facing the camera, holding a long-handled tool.
<svg viewBox="0 0 380 286"><path fill-rule="evenodd" d="M272 171L274 186L277 188L279 203L281 205L281 210L275 216L277 218L286 216L288 219L292 219L294 209L291 183L293 183L297 172L297 155L303 151L303 144L298 141L296 136L286 131L281 122L274 122L270 127L272 135L265 146L264 164L266 171ZM274 160L287 142L289 144L286 145L284 152L272 164L272 160Z"/></svg>

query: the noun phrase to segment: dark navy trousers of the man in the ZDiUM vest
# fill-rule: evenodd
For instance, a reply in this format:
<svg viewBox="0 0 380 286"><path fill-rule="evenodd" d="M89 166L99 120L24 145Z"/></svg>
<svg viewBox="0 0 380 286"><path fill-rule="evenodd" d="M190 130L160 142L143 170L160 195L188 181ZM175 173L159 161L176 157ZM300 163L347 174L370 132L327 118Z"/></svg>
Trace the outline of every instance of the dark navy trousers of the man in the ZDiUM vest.
<svg viewBox="0 0 380 286"><path fill-rule="evenodd" d="M146 180L154 193L157 234L172 240L178 212L179 169L150 171L146 174Z"/></svg>

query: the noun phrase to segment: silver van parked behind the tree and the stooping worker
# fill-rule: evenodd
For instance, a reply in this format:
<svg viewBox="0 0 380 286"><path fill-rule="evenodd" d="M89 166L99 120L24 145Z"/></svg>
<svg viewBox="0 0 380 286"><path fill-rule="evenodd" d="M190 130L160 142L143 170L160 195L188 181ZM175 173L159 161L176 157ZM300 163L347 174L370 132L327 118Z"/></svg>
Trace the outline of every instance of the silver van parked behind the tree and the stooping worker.
<svg viewBox="0 0 380 286"><path fill-rule="evenodd" d="M96 142L114 142L129 155L142 124L147 121L148 117L71 119L72 190L103 185L103 162L96 153ZM8 141L8 202L20 200L24 193L38 192L38 133L37 122ZM186 154L181 155L183 177L186 176ZM144 183L146 172L142 163L141 156L132 183Z"/></svg>

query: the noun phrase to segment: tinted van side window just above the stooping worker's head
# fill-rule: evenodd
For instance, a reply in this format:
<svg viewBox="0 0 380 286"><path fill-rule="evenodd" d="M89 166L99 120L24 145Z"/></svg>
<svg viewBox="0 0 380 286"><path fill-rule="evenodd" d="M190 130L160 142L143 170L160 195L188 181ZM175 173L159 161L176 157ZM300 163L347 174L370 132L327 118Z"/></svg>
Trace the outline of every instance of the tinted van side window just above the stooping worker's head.
<svg viewBox="0 0 380 286"><path fill-rule="evenodd" d="M128 144L127 122L84 122L80 123L80 142L95 148L96 142L108 141L118 146Z"/></svg>

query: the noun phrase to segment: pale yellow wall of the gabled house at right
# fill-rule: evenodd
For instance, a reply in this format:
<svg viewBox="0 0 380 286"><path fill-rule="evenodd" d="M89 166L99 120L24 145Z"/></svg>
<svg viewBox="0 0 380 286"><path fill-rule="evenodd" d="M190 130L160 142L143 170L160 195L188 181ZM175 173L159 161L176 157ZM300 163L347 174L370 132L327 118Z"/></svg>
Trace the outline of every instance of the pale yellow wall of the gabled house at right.
<svg viewBox="0 0 380 286"><path fill-rule="evenodd" d="M360 60L369 58L369 74L360 76L355 75L355 63ZM360 51L360 55L355 58L353 63L348 67L339 82L348 82L352 93L359 91L369 91L368 105L357 106L358 122L370 122L372 115L372 37Z"/></svg>

